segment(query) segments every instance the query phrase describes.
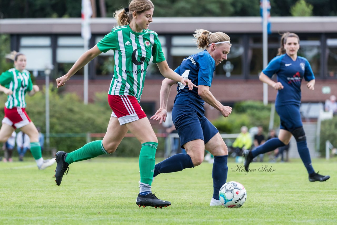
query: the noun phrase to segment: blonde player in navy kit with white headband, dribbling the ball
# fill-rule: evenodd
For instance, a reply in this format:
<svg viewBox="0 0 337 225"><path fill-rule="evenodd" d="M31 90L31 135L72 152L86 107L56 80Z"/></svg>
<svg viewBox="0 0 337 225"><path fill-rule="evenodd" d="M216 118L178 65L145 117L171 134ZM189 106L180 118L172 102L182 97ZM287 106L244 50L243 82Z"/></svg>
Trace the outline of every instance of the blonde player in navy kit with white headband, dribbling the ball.
<svg viewBox="0 0 337 225"><path fill-rule="evenodd" d="M232 108L223 106L215 99L209 87L212 84L215 66L227 59L231 49L231 39L222 32L212 33L198 29L193 35L199 49L204 51L185 58L175 70L183 78L190 79L198 88L193 90L178 83L172 119L178 131L182 147L187 154L175 154L158 163L154 167L153 176L160 173L172 173L200 165L204 160L205 149L214 156L213 163L213 197L210 205L221 205L219 190L227 178L227 146L219 131L205 117L204 104L207 102L227 117ZM154 120L165 121L168 95L176 82L164 79L160 89L160 108L151 117Z"/></svg>

